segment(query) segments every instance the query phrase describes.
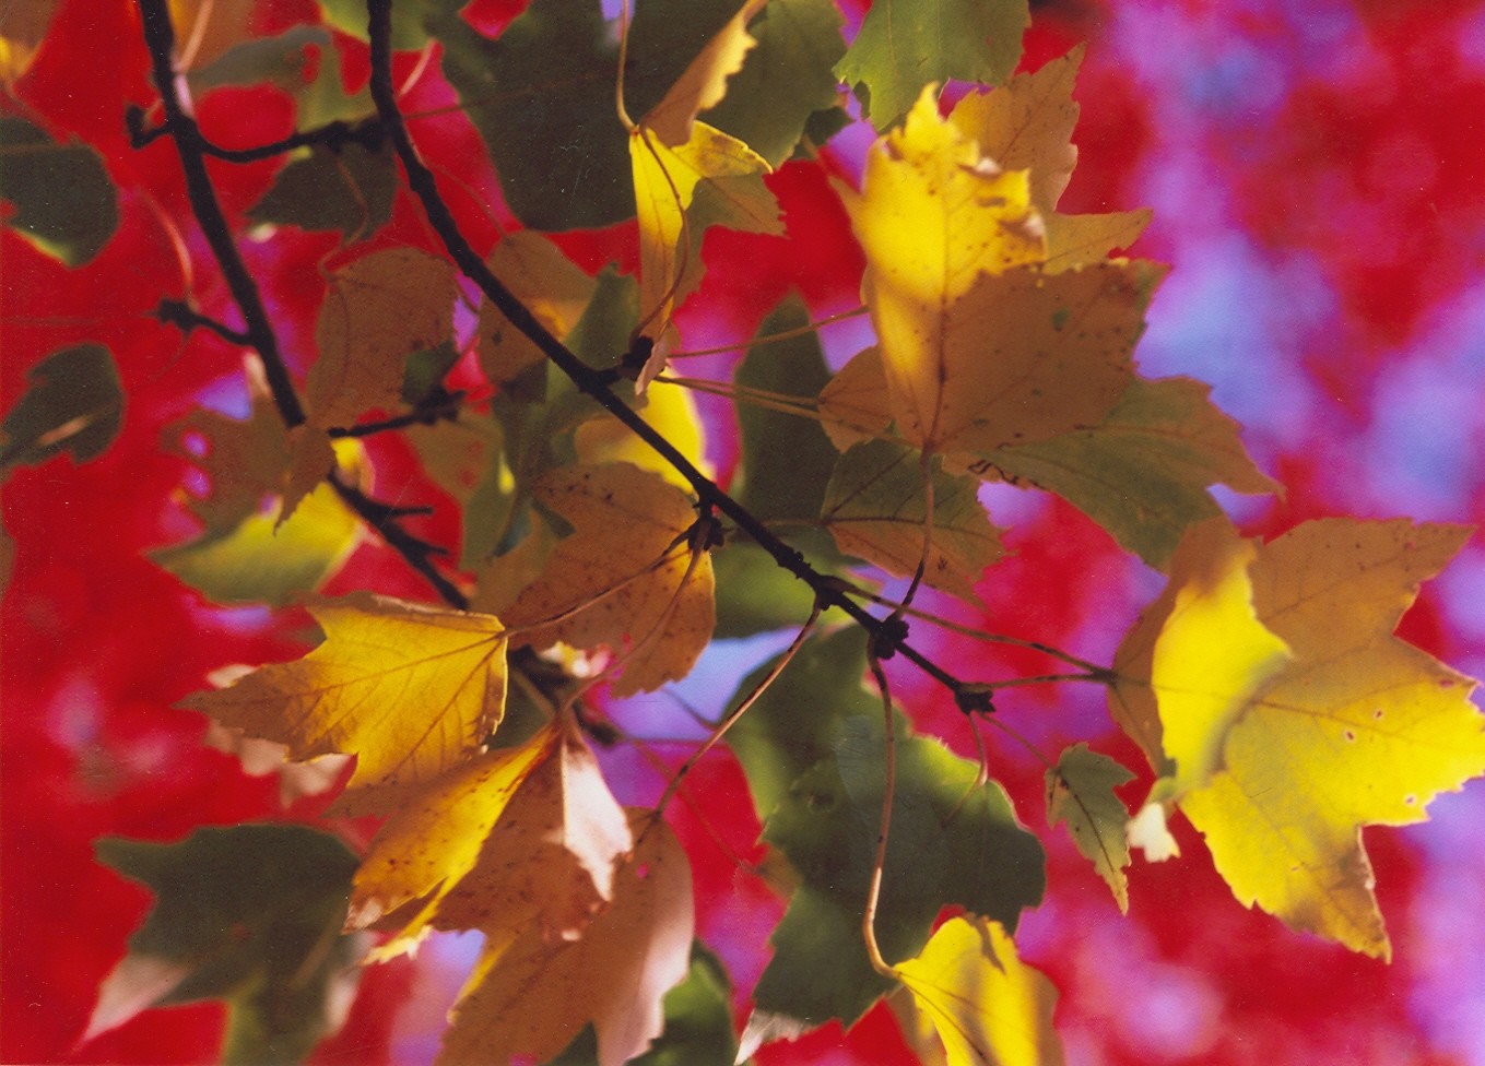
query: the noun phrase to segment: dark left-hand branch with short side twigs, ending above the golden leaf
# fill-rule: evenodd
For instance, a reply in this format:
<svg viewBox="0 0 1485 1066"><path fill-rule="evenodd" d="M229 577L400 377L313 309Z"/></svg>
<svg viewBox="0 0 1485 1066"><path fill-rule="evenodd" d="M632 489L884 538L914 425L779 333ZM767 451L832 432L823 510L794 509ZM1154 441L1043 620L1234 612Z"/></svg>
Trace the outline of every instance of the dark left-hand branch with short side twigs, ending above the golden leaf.
<svg viewBox="0 0 1485 1066"><path fill-rule="evenodd" d="M356 128L346 126L345 123L330 123L330 126L321 131L303 135L310 140L301 140L296 144L290 144L296 138L287 138L273 145L245 148L242 153L220 150L202 135L196 120L186 111L181 102L175 74L175 28L171 25L166 0L140 0L140 19L144 25L144 43L150 52L151 74L160 94L160 107L165 111L165 120L157 126L147 128L144 125L144 111L138 107L129 108L125 114L129 140L137 147L143 147L159 137L169 135L175 143L175 153L180 156L181 169L186 175L186 193L190 197L192 212L196 215L202 236L205 236L206 245L211 248L211 254L217 260L223 278L227 281L227 290L232 292L233 301L242 312L245 328L242 331L232 330L215 319L198 313L189 304L178 300L162 300L156 315L162 321L172 322L181 328L200 327L235 344L245 344L255 349L263 359L273 405L284 419L284 425L293 429L304 423L304 407L298 399L298 392L294 389L288 365L284 362L278 334L275 334L267 309L263 306L263 295L258 291L258 285L248 272L247 263L244 263L242 254L232 238L232 227L227 226L221 202L217 199L217 190L206 171L206 156L215 154L233 162L245 162L248 159L278 154L278 151L297 147L298 143L330 144L331 141L339 141L345 144L350 140L362 141L362 138L370 138L371 134L358 132ZM345 131L327 132L337 125L345 126ZM362 123L362 126L376 128L376 123ZM382 132L376 129L377 144L380 144L380 138ZM394 508L373 500L355 485L345 484L336 472L330 474L330 484L346 506L355 511L394 551L407 560L407 564L420 573L446 603L459 610L468 609L468 597L432 564L432 557L444 554L444 549L413 536L398 523L402 517L426 514L428 509Z"/></svg>

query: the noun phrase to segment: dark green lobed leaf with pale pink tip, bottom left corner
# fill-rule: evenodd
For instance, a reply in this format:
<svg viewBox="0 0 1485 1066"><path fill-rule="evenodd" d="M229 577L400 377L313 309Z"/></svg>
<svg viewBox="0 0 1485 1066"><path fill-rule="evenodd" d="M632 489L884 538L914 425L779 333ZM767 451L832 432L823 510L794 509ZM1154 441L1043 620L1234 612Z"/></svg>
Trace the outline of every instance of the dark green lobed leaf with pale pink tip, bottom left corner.
<svg viewBox="0 0 1485 1066"><path fill-rule="evenodd" d="M105 837L98 860L156 901L104 981L83 1039L156 1004L226 999L224 1062L300 1062L343 1020L355 855L303 825L199 828L178 843ZM340 1007L337 1008L337 1001Z"/></svg>

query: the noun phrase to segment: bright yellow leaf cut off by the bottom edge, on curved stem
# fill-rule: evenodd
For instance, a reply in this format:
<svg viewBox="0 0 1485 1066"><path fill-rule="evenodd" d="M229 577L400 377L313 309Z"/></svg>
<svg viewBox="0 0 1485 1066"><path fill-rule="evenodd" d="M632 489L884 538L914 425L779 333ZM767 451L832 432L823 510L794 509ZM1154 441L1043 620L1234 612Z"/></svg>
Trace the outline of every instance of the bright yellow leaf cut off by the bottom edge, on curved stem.
<svg viewBox="0 0 1485 1066"><path fill-rule="evenodd" d="M916 959L892 968L933 1024L947 1066L1060 1066L1057 990L1016 955L999 922L952 918ZM912 1018L912 1014L909 1014ZM921 1018L912 1030L922 1036Z"/></svg>

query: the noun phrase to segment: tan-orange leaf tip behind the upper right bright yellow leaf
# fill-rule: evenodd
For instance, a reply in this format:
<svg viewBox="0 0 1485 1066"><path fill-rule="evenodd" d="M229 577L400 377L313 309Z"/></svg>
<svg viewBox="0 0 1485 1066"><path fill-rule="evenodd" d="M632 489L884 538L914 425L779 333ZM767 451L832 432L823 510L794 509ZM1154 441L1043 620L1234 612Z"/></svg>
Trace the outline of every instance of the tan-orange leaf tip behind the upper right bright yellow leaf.
<svg viewBox="0 0 1485 1066"><path fill-rule="evenodd" d="M1072 86L1084 50L1078 45L1032 74L1016 74L998 89L971 92L949 114L949 122L1004 169L1031 171L1031 202L1042 215L1057 206L1078 162L1072 144L1072 128L1078 125Z"/></svg>

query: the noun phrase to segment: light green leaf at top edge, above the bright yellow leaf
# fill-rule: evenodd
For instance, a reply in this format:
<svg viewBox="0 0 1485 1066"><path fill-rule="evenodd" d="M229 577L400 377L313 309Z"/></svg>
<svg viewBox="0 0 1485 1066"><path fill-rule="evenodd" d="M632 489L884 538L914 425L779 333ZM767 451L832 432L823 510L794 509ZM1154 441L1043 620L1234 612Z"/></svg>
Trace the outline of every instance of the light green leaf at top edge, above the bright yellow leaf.
<svg viewBox="0 0 1485 1066"><path fill-rule="evenodd" d="M836 64L885 129L930 82L995 85L1016 68L1031 16L1026 0L881 0Z"/></svg>

